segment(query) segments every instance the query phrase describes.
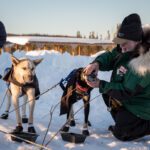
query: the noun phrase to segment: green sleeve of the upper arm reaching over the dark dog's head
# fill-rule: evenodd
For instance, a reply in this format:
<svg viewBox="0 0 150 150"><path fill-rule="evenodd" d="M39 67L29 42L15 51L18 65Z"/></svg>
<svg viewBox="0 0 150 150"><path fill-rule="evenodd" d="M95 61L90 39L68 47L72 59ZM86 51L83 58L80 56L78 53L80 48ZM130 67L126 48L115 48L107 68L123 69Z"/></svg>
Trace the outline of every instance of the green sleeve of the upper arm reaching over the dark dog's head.
<svg viewBox="0 0 150 150"><path fill-rule="evenodd" d="M116 57L120 54L119 48L116 47L112 51L99 55L94 61L98 62L101 71L110 71L113 69Z"/></svg>

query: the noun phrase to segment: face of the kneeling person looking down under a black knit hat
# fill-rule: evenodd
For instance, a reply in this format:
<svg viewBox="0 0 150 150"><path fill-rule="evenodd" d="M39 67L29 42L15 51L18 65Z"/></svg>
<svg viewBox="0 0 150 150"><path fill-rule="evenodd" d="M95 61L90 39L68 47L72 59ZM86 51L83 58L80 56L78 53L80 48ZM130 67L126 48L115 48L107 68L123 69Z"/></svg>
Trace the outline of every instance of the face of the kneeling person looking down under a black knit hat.
<svg viewBox="0 0 150 150"><path fill-rule="evenodd" d="M134 48L136 47L136 45L138 43L139 42L135 42L135 41L126 41L126 42L120 44L120 47L122 49L122 53L126 53L126 52L134 50Z"/></svg>

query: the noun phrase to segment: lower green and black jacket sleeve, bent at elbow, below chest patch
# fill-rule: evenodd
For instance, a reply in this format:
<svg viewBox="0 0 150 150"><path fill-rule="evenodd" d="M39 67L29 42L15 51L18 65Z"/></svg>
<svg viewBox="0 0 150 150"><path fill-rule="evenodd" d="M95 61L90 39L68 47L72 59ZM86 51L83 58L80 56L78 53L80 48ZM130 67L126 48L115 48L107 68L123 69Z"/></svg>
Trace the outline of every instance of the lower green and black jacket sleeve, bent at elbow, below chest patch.
<svg viewBox="0 0 150 150"><path fill-rule="evenodd" d="M107 82L100 81L99 91L100 93L107 94L120 101L130 100L132 97L140 94L146 85L143 83L143 79L137 77L133 73L125 75L123 82ZM150 83L150 81L149 81Z"/></svg>

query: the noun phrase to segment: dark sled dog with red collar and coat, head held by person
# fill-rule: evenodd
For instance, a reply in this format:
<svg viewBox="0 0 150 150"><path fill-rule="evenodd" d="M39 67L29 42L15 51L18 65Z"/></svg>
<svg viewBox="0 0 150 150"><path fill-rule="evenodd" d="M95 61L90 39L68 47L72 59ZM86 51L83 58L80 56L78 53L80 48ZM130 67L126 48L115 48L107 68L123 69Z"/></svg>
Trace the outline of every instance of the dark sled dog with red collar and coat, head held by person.
<svg viewBox="0 0 150 150"><path fill-rule="evenodd" d="M66 86L62 87L64 90L62 98L61 98L61 107L60 107L60 115L67 114L67 123L64 125L61 131L68 132L69 127L75 125L75 121L72 115L72 105L78 100L83 100L84 102L84 125L82 133L84 135L89 135L88 125L90 122L88 121L89 111L90 111L90 93L92 88L87 85L85 81L84 68L79 68L73 70L70 74L69 79L67 81ZM91 75L88 77L89 79L94 79L95 76Z"/></svg>

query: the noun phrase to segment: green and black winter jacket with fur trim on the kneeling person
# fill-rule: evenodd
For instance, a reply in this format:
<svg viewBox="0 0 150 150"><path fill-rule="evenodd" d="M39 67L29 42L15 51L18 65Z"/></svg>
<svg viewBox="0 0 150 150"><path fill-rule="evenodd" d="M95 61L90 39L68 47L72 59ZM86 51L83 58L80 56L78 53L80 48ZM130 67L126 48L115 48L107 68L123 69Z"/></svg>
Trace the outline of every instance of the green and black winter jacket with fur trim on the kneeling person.
<svg viewBox="0 0 150 150"><path fill-rule="evenodd" d="M101 71L112 70L111 81L100 81L100 93L119 100L136 116L150 120L150 52L135 56L133 52L121 53L116 47L103 53L94 62ZM123 66L125 74L119 72Z"/></svg>

